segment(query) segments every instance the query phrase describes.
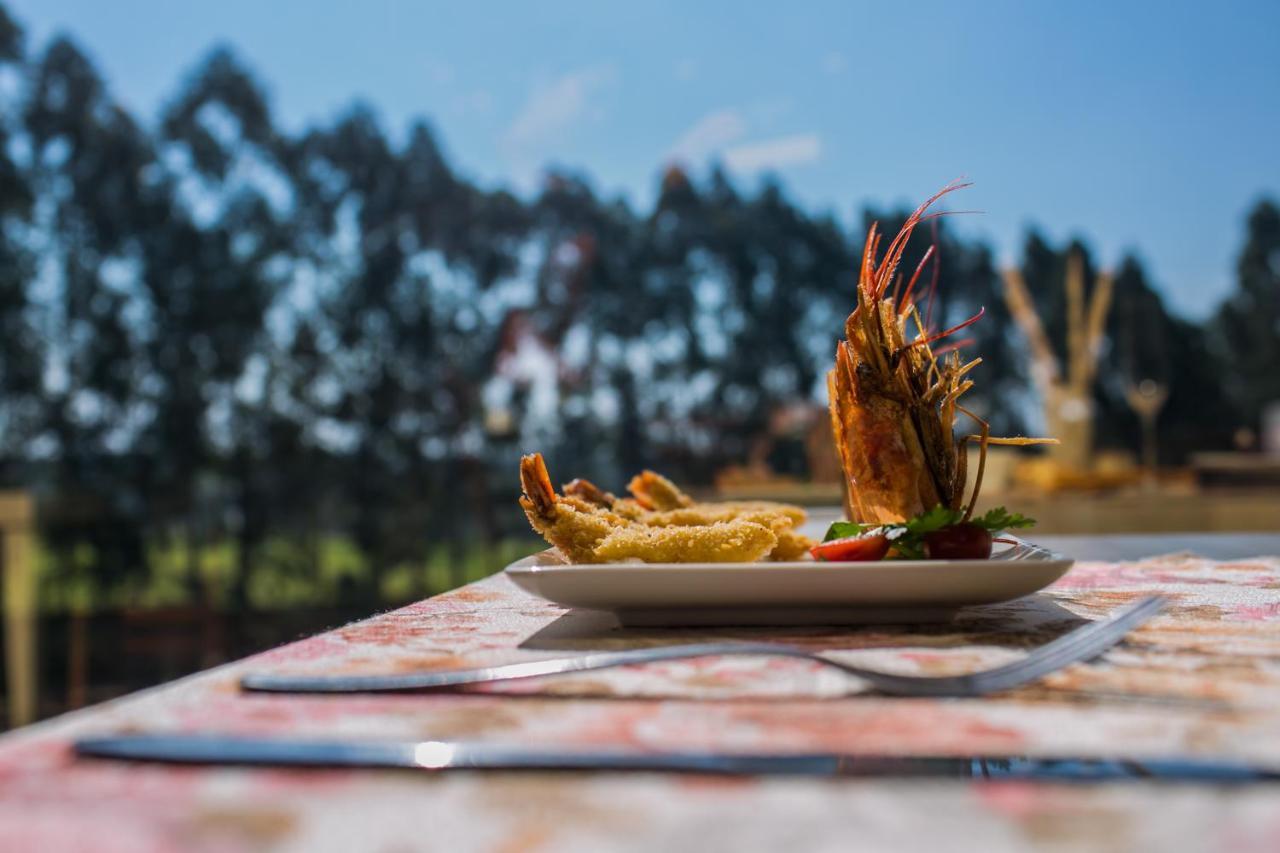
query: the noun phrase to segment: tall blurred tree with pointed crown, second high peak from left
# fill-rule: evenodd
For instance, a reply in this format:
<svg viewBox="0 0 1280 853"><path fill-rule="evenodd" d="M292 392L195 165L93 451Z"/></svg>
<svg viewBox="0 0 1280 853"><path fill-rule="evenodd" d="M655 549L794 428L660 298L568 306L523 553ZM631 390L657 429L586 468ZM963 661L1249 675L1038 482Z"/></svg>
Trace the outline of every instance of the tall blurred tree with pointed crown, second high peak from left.
<svg viewBox="0 0 1280 853"><path fill-rule="evenodd" d="M278 506L264 500L270 489L262 480L282 479L297 456L292 442L274 446L275 433L257 423L270 418L261 378L268 311L293 273L292 200L266 100L230 51L210 54L161 127L166 160L180 165L177 200L143 242L155 416L142 447L155 466L152 511L184 523L188 581L197 584L198 555L218 514L198 505L196 474L227 460L238 510L232 599L243 605L255 549ZM266 475L261 466L271 459L283 465ZM275 497L289 494L307 496Z"/></svg>

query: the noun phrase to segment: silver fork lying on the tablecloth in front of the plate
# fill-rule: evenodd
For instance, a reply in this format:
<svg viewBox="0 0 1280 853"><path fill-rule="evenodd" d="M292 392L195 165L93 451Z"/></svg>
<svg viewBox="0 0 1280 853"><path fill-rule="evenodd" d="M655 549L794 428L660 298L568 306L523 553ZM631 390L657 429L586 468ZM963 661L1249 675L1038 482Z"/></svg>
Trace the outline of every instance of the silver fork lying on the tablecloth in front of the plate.
<svg viewBox="0 0 1280 853"><path fill-rule="evenodd" d="M525 663L503 663L475 670L436 670L404 675L246 675L241 686L265 693L388 693L444 690L474 684L495 684L541 675L586 672L613 666L635 666L694 657L755 654L817 661L854 675L881 693L905 697L975 697L1009 690L1034 681L1078 661L1088 661L1119 643L1125 634L1164 610L1160 596L1143 598L1110 616L1083 625L1036 648L1027 657L965 675L896 675L833 661L822 654L781 643L691 643L639 648L625 652L594 652Z"/></svg>

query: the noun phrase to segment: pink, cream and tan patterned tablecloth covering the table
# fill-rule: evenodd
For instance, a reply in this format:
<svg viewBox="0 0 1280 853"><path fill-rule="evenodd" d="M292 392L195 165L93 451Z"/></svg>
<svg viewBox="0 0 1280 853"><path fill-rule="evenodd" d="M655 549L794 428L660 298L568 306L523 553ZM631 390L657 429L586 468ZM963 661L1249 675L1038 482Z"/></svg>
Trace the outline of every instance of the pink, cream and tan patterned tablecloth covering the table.
<svg viewBox="0 0 1280 853"><path fill-rule="evenodd" d="M466 695L244 695L246 671L388 672L708 637L951 672L1160 590L1102 661L975 701L893 699L800 661L655 665ZM954 624L622 630L502 576L0 738L3 850L1280 849L1280 786L193 768L76 760L119 731L646 749L1206 754L1280 763L1280 558L1082 564Z"/></svg>

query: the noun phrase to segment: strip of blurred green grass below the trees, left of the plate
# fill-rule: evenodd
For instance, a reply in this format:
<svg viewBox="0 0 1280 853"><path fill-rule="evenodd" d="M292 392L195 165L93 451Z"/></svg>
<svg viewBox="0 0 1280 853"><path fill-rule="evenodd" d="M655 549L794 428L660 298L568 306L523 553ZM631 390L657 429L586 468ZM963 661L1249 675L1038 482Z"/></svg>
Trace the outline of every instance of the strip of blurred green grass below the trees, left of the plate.
<svg viewBox="0 0 1280 853"><path fill-rule="evenodd" d="M310 542L275 537L262 543L247 585L255 610L323 607L342 603L351 589L366 590L380 603L394 605L434 596L500 570L540 546L532 539L503 539L493 544L470 544L458 552L448 547L428 551L421 561L385 569L376 579L372 566L349 539L324 535ZM202 546L195 555L198 576L192 594L186 542L154 544L147 553L145 575L118 583L99 583L97 560L88 546L65 557L37 546L40 608L42 612L90 612L119 607L174 607L202 605L223 607L236 580L237 552L233 542Z"/></svg>

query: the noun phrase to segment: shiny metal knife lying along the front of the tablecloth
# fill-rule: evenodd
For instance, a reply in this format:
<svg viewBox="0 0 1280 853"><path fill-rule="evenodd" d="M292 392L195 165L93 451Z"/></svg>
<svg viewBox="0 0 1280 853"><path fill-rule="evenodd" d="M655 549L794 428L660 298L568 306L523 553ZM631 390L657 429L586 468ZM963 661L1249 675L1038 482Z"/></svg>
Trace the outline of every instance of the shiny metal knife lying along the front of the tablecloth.
<svg viewBox="0 0 1280 853"><path fill-rule="evenodd" d="M852 779L991 779L1276 783L1280 766L1230 758L919 757L838 753L712 753L561 749L449 740L285 740L152 734L86 738L76 753L184 765L397 767L439 770L595 770Z"/></svg>

